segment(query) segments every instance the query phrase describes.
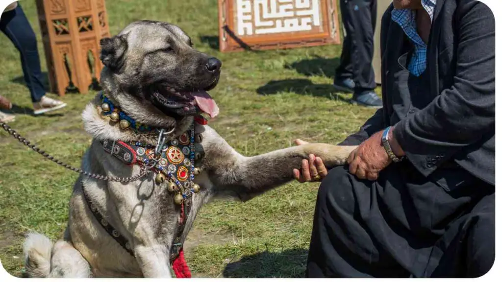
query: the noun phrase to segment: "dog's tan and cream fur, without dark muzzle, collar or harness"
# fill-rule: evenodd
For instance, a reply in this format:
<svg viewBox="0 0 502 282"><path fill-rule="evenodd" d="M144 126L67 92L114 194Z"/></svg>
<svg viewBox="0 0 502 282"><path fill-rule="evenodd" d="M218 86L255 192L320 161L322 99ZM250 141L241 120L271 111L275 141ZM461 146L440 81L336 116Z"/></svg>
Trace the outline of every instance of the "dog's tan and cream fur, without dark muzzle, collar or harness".
<svg viewBox="0 0 502 282"><path fill-rule="evenodd" d="M170 135L170 138L175 138L189 128L193 116L173 118L127 90L132 83L128 75L130 78L141 76L143 70L138 65L142 57L152 49L164 48L163 36L168 36L170 40L174 38L178 46L186 49L184 52L192 52L190 56L205 56L193 53L196 51L189 46L188 37L175 26L155 22L133 23L118 35L121 37L119 40L127 42L127 48L118 45L112 52L113 56L120 56L125 62L114 65L109 61L113 58L103 52L105 68L101 84L114 104L136 120L152 126L175 126L176 130ZM118 39L114 37L112 40ZM106 46L102 48L106 50ZM159 60L163 59L159 57ZM134 83L141 82L133 82L133 87L141 86ZM83 156L82 169L115 177L138 174L139 166L126 166L106 154L100 140L156 144L157 136L120 129L100 115L99 105L100 100L96 96L82 114L84 128L93 136L92 144ZM202 171L195 178L195 183L200 185L201 191L192 195L192 209L186 219L182 242L198 210L209 200L230 197L246 201L291 181L293 169L300 168L301 161L309 154L319 156L326 166L333 167L345 163L353 150L353 147L307 144L244 157L208 125L196 124L195 133L195 166ZM70 199L69 222L63 239L52 245L40 234L28 236L25 242L27 274L32 277L172 277L169 254L180 208L173 203L166 184L156 185L154 178L152 173L131 183L117 183L80 177ZM136 258L114 241L96 221L83 198L83 188L109 224L129 240Z"/></svg>

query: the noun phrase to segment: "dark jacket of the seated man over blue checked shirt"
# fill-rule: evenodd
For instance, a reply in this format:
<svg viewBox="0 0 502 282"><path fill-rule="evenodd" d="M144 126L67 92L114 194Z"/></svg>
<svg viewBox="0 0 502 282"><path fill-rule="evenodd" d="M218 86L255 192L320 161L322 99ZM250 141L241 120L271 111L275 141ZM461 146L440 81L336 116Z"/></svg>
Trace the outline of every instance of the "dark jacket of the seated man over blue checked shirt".
<svg viewBox="0 0 502 282"><path fill-rule="evenodd" d="M340 145L357 145L394 125L406 157L424 176L456 162L477 178L495 183L495 20L474 0L437 0L427 47L430 91L423 101L395 91L398 58L411 41L392 21L393 5L382 19L384 107ZM407 45L408 44L408 45ZM407 49L408 46L408 49ZM406 49L406 50L405 50ZM417 106L421 104L424 106Z"/></svg>

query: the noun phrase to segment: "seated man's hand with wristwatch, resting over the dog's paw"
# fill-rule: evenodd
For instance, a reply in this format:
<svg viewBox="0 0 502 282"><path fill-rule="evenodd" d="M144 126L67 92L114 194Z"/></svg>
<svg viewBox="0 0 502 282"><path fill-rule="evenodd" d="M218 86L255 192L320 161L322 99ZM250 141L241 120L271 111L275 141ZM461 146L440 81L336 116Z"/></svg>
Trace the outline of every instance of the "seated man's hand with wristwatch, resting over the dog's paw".
<svg viewBox="0 0 502 282"><path fill-rule="evenodd" d="M404 156L404 152L393 137L393 129L389 132L389 143L394 154ZM384 130L371 135L348 156L349 172L359 179L376 180L379 173L392 163L382 144Z"/></svg>

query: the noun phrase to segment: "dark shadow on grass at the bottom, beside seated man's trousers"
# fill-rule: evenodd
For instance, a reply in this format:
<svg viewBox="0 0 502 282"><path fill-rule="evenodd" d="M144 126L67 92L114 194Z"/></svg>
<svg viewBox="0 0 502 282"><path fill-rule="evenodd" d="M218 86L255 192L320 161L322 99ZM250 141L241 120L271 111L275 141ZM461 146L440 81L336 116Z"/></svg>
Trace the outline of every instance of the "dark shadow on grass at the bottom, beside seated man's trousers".
<svg viewBox="0 0 502 282"><path fill-rule="evenodd" d="M264 251L244 256L239 261L228 263L223 277L305 277L306 249L288 249L279 253Z"/></svg>

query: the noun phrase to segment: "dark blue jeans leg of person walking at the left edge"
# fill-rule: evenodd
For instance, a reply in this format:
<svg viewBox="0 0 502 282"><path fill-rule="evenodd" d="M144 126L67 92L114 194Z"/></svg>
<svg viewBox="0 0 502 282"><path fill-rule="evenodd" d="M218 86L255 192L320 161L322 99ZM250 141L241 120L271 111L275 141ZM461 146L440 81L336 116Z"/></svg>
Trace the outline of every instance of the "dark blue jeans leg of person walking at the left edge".
<svg viewBox="0 0 502 282"><path fill-rule="evenodd" d="M45 95L37 38L18 4L16 9L2 14L0 30L14 43L21 54L21 66L33 102L38 102Z"/></svg>

